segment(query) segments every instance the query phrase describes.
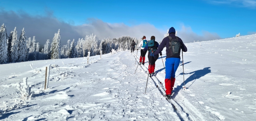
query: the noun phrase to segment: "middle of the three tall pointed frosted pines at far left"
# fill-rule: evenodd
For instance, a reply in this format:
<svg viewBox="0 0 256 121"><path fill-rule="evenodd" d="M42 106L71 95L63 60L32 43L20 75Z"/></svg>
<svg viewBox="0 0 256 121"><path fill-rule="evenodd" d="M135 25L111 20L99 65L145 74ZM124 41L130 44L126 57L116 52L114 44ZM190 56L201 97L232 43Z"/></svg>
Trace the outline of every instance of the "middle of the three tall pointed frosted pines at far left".
<svg viewBox="0 0 256 121"><path fill-rule="evenodd" d="M17 40L17 31L15 27L12 34L12 48L11 48L10 62L17 62L17 60L18 60L18 40Z"/></svg>

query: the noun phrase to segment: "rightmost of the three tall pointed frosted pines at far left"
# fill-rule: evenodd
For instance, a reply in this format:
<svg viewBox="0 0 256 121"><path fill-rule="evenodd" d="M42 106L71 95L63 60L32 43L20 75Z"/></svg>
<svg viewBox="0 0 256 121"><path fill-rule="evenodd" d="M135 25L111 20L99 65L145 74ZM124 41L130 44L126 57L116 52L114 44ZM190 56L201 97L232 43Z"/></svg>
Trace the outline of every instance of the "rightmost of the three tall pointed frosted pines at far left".
<svg viewBox="0 0 256 121"><path fill-rule="evenodd" d="M25 62L27 60L27 44L24 28L19 36L18 43L18 62Z"/></svg>

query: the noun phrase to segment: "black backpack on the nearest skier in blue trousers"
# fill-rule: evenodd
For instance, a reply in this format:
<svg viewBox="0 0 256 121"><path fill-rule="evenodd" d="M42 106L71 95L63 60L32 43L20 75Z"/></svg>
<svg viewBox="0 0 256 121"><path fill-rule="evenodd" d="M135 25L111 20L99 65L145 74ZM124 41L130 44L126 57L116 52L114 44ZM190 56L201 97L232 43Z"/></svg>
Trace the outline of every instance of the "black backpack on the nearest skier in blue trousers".
<svg viewBox="0 0 256 121"><path fill-rule="evenodd" d="M180 56L180 48L181 48L181 42L179 41L179 37L176 37L175 39L173 39L172 37L168 36L170 41L169 41L169 47L168 47L168 53L170 53L170 51L172 52L172 55L168 55L168 56L172 56L172 57L179 57Z"/></svg>

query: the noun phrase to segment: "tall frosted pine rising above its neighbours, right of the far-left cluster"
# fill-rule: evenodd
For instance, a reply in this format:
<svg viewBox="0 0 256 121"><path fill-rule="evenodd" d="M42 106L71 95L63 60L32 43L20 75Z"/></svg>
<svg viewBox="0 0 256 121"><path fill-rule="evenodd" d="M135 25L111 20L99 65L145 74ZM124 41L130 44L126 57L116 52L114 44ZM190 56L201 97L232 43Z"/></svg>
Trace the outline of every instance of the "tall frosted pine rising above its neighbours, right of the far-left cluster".
<svg viewBox="0 0 256 121"><path fill-rule="evenodd" d="M51 59L59 59L60 58L60 30L57 34L55 34L53 38L53 42L51 44Z"/></svg>

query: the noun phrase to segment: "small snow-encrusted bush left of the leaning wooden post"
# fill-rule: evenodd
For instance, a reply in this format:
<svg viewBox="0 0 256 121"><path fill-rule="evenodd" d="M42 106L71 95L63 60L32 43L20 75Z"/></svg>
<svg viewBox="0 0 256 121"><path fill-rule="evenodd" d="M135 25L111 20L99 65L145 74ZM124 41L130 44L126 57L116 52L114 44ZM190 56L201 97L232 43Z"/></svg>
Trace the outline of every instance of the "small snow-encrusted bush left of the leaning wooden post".
<svg viewBox="0 0 256 121"><path fill-rule="evenodd" d="M23 78L23 84L24 84L24 86L22 87L21 85L20 85L20 82L19 83L17 83L17 86L16 86L16 88L20 91L20 97L22 98L22 99L28 99L28 97L32 97L33 96L33 94L34 94L34 92L32 91L31 92L31 85L29 85L28 86L28 82L27 82L27 77L24 77Z"/></svg>

